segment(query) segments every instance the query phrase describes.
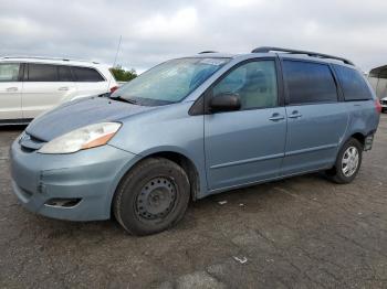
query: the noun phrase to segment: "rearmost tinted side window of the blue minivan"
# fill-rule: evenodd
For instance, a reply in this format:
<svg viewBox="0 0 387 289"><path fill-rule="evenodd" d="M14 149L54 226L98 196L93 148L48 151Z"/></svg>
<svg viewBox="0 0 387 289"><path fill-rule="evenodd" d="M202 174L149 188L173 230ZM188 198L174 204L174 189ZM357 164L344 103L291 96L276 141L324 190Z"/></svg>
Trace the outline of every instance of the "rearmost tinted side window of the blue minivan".
<svg viewBox="0 0 387 289"><path fill-rule="evenodd" d="M335 65L335 72L342 85L345 100L367 100L373 98L366 81L358 71Z"/></svg>

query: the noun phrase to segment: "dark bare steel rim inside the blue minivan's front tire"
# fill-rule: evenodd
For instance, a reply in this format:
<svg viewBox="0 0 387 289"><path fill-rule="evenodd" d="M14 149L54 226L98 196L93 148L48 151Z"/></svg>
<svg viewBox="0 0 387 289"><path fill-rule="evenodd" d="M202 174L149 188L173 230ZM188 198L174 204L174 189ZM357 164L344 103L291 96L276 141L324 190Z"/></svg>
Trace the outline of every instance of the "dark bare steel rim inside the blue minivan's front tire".
<svg viewBox="0 0 387 289"><path fill-rule="evenodd" d="M176 186L168 178L155 178L147 182L137 196L140 217L156 220L165 217L174 207Z"/></svg>

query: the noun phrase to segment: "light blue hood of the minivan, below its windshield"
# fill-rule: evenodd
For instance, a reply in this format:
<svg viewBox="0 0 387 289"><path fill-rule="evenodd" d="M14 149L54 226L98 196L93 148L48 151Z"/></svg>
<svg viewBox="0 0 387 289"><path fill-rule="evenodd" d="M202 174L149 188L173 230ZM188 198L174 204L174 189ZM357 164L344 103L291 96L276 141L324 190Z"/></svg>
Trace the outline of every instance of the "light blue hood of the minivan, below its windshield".
<svg viewBox="0 0 387 289"><path fill-rule="evenodd" d="M107 97L83 98L41 115L27 127L25 132L42 141L50 141L84 126L119 121L149 109L155 107L132 105Z"/></svg>

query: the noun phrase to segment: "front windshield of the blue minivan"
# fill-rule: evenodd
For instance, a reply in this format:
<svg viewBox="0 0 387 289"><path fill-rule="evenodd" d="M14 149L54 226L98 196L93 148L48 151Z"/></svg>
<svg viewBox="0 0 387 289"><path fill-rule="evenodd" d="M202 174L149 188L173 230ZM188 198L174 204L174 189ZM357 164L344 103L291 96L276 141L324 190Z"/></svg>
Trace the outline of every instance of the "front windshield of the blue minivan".
<svg viewBox="0 0 387 289"><path fill-rule="evenodd" d="M118 88L112 98L146 106L178 103L229 58L179 58L161 63Z"/></svg>

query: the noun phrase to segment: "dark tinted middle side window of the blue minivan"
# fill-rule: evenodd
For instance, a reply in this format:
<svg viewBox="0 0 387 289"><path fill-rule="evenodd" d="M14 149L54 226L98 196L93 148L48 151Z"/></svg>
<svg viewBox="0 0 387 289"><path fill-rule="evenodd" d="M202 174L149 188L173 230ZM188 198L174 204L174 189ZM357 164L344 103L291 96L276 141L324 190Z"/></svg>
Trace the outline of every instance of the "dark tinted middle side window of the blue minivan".
<svg viewBox="0 0 387 289"><path fill-rule="evenodd" d="M337 87L328 65L284 61L283 73L291 105L337 101Z"/></svg>

